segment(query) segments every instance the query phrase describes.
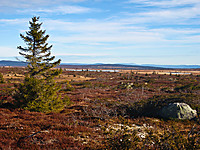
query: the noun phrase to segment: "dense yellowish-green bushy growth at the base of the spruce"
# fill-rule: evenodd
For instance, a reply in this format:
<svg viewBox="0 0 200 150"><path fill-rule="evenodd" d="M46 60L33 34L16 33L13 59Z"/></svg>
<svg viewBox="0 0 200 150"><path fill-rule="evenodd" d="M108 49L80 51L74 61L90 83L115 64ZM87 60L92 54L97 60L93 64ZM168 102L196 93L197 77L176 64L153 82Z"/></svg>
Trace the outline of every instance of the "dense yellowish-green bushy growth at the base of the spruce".
<svg viewBox="0 0 200 150"><path fill-rule="evenodd" d="M16 90L16 106L30 111L51 112L64 108L68 99L61 99L57 93L60 86L43 79L26 77Z"/></svg>

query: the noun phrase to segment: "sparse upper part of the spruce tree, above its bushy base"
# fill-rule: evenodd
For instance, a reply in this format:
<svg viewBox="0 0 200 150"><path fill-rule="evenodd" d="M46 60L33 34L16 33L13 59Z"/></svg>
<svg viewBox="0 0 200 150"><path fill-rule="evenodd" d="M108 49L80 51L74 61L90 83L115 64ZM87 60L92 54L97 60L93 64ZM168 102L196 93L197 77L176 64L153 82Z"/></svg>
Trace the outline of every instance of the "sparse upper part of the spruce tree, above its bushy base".
<svg viewBox="0 0 200 150"><path fill-rule="evenodd" d="M51 70L55 66L59 65L61 60L55 61L55 56L51 56L52 45L48 46L46 43L49 35L45 35L45 30L40 30L42 23L38 23L39 17L33 17L30 21L30 31L26 32L26 36L20 34L20 37L24 40L27 47L18 46L21 50L19 52L28 64L28 71L31 77L43 76L45 78L53 78L61 73L61 70Z"/></svg>

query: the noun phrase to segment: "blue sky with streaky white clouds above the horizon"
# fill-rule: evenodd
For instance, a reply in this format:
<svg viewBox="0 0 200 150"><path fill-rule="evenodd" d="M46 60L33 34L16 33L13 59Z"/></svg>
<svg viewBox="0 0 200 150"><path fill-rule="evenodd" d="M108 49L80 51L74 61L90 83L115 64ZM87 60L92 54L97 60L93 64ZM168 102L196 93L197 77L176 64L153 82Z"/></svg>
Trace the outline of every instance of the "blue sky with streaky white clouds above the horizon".
<svg viewBox="0 0 200 150"><path fill-rule="evenodd" d="M200 0L1 0L0 60L33 16L62 63L200 65Z"/></svg>

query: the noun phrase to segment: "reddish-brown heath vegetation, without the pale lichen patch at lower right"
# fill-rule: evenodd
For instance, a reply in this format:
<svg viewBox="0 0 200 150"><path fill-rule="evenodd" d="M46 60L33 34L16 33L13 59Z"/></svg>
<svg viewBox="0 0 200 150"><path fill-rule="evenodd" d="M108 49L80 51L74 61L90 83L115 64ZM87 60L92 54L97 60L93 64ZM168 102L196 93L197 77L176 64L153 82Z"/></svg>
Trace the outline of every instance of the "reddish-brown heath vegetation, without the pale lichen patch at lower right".
<svg viewBox="0 0 200 150"><path fill-rule="evenodd" d="M24 74L24 71L22 68L0 69L4 75ZM62 80L60 92L63 97L65 95L69 97L71 104L59 113L45 114L14 108L13 82L17 83L16 80L21 82L22 79L7 78L6 83L0 84L1 149L105 149L108 146L105 142L109 134L103 129L117 123L138 126L146 124L152 126L158 135L164 131L167 133L176 131L186 139L192 127L195 131L200 128L198 119L162 120L142 115L133 118L134 115L127 111L127 108L135 102L153 99L155 96L157 96L155 100L177 98L177 95L193 108L199 109L199 76L88 71L65 71L63 75L73 75L76 79L78 76L93 79L89 81L72 79L69 82ZM190 99L187 99L188 97ZM141 141L139 144L142 146Z"/></svg>

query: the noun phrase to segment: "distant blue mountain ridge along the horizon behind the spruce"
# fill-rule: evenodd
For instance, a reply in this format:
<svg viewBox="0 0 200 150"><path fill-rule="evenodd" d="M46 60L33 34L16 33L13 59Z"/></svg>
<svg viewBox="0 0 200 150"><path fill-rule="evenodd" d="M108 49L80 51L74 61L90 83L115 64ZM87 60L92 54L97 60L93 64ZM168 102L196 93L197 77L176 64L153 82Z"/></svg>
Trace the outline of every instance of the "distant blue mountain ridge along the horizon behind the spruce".
<svg viewBox="0 0 200 150"><path fill-rule="evenodd" d="M10 61L1 60L0 66L12 66L12 67L25 67L27 62L23 61ZM68 68L91 68L91 69L198 69L200 65L155 65L155 64L142 64L137 65L134 63L126 64L82 64L82 63L61 63L59 67Z"/></svg>

